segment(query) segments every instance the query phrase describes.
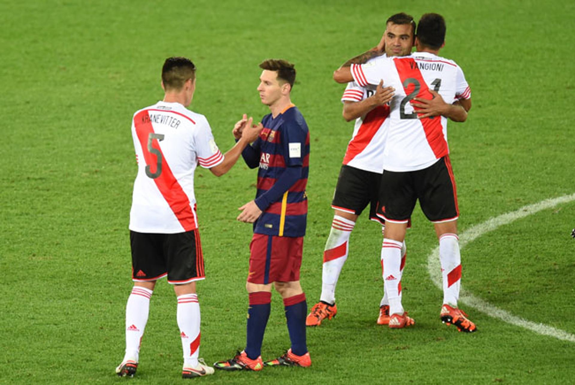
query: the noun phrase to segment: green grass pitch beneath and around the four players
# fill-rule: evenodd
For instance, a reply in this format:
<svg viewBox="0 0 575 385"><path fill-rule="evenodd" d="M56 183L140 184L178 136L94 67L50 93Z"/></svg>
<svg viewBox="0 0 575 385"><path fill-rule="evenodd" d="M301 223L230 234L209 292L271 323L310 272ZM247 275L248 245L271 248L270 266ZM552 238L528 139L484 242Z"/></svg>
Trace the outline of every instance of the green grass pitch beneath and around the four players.
<svg viewBox="0 0 575 385"><path fill-rule="evenodd" d="M329 207L352 124L340 115L332 71L379 41L396 12L446 17L441 54L465 71L473 108L449 124L460 232L527 204L575 192L575 61L569 2L457 0L99 1L0 4L0 383L119 383L124 308L132 287L128 216L136 166L135 110L162 98L160 69L182 55L198 67L191 108L208 117L222 150L246 112L267 113L255 87L266 58L296 63L292 100L311 133L308 234L302 286L319 300ZM196 195L208 279L198 284L200 355L227 359L245 344L251 226L236 208L255 193L255 171L198 170ZM575 334L575 202L516 220L462 250L462 285L529 321ZM404 306L416 326L375 324L381 232L360 218L336 291L338 316L308 329L309 369L217 372L210 383L573 383L575 343L541 336L461 304L475 334L439 321L430 280L432 226L416 208L408 232ZM152 297L132 382L181 382L171 287ZM262 356L289 347L274 293Z"/></svg>

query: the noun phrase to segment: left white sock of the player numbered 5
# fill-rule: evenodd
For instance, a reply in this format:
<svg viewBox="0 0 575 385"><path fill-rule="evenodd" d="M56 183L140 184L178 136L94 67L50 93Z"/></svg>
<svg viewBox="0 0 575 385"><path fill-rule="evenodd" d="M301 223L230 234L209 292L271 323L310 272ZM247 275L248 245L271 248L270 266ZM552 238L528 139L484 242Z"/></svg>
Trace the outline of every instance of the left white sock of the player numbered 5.
<svg viewBox="0 0 575 385"><path fill-rule="evenodd" d="M150 313L150 298L153 291L134 286L126 304L126 352L124 360L138 361L140 342Z"/></svg>

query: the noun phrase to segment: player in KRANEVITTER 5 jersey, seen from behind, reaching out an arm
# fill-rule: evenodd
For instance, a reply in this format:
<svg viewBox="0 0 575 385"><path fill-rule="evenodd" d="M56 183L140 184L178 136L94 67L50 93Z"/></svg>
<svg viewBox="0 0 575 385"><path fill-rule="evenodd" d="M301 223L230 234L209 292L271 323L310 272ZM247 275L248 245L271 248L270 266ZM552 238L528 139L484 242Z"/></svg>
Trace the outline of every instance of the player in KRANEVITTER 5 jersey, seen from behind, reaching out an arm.
<svg viewBox="0 0 575 385"><path fill-rule="evenodd" d="M186 58L168 58L162 68L164 99L137 111L132 138L138 170L130 212L132 280L126 306L126 350L118 376L133 376L156 281L166 277L177 296L177 323L183 348L183 378L210 375L198 361L200 304L196 281L205 279L198 232L194 170L198 163L221 176L254 141L261 127L248 120L239 141L222 154L205 116L191 112L196 67Z"/></svg>

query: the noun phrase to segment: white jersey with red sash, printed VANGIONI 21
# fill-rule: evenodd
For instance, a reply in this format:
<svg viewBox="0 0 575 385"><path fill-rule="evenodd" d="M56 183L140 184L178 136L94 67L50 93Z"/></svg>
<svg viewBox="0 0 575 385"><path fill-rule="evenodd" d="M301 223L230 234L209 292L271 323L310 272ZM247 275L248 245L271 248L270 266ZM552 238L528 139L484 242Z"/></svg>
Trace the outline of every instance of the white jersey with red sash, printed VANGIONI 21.
<svg viewBox="0 0 575 385"><path fill-rule="evenodd" d="M396 89L390 102L385 170L421 170L449 154L447 118L419 120L409 101L415 97L431 98L427 92L430 88L449 104L471 98L469 85L457 63L429 52L415 52L410 56L352 64L351 74L360 86L377 85L384 79L386 86Z"/></svg>

